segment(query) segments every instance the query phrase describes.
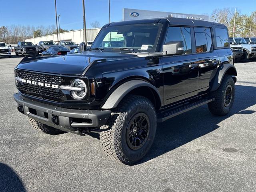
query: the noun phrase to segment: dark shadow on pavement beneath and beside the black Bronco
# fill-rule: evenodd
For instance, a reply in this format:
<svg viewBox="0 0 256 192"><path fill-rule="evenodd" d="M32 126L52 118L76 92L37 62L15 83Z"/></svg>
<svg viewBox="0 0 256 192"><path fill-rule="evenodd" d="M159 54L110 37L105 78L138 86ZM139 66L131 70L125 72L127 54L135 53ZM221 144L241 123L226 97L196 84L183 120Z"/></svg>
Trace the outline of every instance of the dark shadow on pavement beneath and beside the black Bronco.
<svg viewBox="0 0 256 192"><path fill-rule="evenodd" d="M254 110L246 110L246 108L256 104L256 87L236 85L235 94L232 110L226 116L212 115L206 105L158 124L154 144L138 164L156 158L216 130L219 128L220 122L234 114L252 114L255 112Z"/></svg>

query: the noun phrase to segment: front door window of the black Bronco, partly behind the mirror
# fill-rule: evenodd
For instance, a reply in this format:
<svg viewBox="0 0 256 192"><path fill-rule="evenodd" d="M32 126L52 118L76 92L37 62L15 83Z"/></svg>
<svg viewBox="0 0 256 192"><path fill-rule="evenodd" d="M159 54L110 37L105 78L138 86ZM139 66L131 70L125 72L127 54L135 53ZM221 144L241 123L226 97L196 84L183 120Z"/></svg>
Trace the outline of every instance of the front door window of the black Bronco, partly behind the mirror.
<svg viewBox="0 0 256 192"><path fill-rule="evenodd" d="M183 41L183 54L191 53L191 33L189 27L169 27L165 42Z"/></svg>

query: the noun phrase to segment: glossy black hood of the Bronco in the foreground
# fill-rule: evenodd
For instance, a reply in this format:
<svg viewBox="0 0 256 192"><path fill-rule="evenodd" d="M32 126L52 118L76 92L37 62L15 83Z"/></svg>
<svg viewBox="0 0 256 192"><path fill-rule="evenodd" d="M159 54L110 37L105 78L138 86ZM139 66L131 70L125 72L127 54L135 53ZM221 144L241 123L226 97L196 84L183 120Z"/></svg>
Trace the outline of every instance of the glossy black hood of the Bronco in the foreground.
<svg viewBox="0 0 256 192"><path fill-rule="evenodd" d="M88 65L94 60L106 59L123 60L137 57L134 54L119 52L83 52L81 54L68 54L65 56L44 57L36 60L21 61L17 68L36 72L45 72L64 75L82 75Z"/></svg>

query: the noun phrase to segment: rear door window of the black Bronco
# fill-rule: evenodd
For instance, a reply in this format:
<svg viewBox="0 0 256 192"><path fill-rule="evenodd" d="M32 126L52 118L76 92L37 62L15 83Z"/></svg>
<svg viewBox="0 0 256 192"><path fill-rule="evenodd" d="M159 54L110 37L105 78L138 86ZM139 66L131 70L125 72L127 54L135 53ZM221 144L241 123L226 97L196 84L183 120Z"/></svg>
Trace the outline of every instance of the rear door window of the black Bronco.
<svg viewBox="0 0 256 192"><path fill-rule="evenodd" d="M212 34L210 28L195 27L196 53L213 51Z"/></svg>

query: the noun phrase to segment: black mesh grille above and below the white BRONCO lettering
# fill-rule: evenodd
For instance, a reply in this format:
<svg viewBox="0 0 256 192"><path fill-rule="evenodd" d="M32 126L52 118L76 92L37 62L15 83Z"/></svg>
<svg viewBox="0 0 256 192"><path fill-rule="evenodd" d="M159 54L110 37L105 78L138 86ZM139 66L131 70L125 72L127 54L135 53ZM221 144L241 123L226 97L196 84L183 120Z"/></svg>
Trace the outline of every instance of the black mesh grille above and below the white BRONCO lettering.
<svg viewBox="0 0 256 192"><path fill-rule="evenodd" d="M36 81L36 82L44 82L48 84L56 84L56 85L60 85L60 83L63 81L63 79L60 76L21 71L21 70L16 70L16 77L19 77L21 79L26 79L26 80ZM62 91L55 88L48 88L44 86L38 86L38 85L22 83L22 82L20 82L17 87L21 93L27 94L27 95L37 96L40 98L46 98L54 101L62 101L62 99L64 98L64 94L62 93Z"/></svg>

